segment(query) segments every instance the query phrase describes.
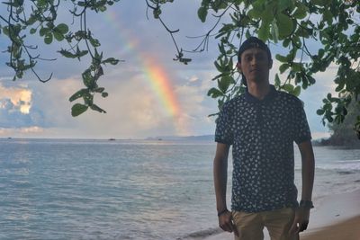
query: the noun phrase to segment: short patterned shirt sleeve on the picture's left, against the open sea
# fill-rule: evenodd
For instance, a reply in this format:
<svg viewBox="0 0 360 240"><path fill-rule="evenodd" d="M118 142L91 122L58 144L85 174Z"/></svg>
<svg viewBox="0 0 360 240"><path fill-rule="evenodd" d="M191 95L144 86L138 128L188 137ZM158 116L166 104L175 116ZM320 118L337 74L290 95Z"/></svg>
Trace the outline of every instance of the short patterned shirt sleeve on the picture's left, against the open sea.
<svg viewBox="0 0 360 240"><path fill-rule="evenodd" d="M233 143L233 133L231 130L231 108L225 103L216 120L215 142L231 145Z"/></svg>

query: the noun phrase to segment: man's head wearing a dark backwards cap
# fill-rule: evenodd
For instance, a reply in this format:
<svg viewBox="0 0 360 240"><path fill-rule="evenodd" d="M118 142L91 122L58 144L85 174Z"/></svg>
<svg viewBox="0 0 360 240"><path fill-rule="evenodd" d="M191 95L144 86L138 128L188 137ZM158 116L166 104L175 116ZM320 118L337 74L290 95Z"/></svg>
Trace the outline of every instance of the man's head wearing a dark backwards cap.
<svg viewBox="0 0 360 240"><path fill-rule="evenodd" d="M247 81L268 81L272 66L271 52L264 41L250 37L241 44L238 49L238 70L245 85Z"/></svg>

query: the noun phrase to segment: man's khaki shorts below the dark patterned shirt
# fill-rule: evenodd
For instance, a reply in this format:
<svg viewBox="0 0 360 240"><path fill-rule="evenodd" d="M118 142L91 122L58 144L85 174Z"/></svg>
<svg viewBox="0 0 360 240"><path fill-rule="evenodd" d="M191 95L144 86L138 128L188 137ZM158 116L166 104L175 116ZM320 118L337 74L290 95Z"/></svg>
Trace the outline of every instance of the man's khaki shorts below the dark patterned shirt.
<svg viewBox="0 0 360 240"><path fill-rule="evenodd" d="M298 240L298 234L288 234L294 215L295 211L291 208L257 213L232 211L232 219L238 229L235 240L263 240L264 227L269 231L271 240Z"/></svg>

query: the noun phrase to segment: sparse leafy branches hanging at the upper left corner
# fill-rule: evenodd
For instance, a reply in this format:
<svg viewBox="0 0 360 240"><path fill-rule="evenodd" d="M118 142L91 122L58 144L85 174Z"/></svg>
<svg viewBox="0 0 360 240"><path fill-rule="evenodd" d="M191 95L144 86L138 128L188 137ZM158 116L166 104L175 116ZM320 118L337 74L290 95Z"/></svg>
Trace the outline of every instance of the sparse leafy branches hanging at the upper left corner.
<svg viewBox="0 0 360 240"><path fill-rule="evenodd" d="M87 109L105 112L94 103L94 94L99 93L107 97L108 93L98 85L98 80L103 76L103 66L106 64L116 65L119 60L115 58L103 58L99 53L100 41L94 38L94 34L86 25L86 14L90 11L102 13L107 7L118 2L96 0L8 0L2 5L7 8L7 15L0 15L0 33L9 39L7 47L9 58L6 62L8 67L14 69L14 80L22 78L25 71L31 69L40 82L47 82L51 78L43 78L36 72L35 67L39 60L53 61L55 59L42 58L38 53L39 46L27 43L27 35L37 35L44 44L53 44L66 41L68 48L59 49L58 53L65 58L80 60L84 57L90 59L89 67L82 74L85 88L74 93L69 101L82 99L82 103L76 103L71 109L73 116L78 116ZM3 7L2 6L2 7ZM58 10L60 7L68 9L73 22L68 26L64 22L58 22ZM73 31L70 31L70 28Z"/></svg>

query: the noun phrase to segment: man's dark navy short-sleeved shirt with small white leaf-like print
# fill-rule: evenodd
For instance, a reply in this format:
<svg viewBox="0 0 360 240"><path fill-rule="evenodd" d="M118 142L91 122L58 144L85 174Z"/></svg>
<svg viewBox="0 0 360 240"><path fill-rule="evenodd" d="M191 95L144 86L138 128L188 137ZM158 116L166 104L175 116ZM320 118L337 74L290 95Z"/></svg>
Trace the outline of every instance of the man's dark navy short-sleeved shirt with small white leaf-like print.
<svg viewBox="0 0 360 240"><path fill-rule="evenodd" d="M302 102L271 85L263 100L247 92L226 102L216 123L215 141L232 145L231 209L296 207L293 142L311 139Z"/></svg>

